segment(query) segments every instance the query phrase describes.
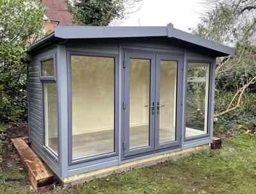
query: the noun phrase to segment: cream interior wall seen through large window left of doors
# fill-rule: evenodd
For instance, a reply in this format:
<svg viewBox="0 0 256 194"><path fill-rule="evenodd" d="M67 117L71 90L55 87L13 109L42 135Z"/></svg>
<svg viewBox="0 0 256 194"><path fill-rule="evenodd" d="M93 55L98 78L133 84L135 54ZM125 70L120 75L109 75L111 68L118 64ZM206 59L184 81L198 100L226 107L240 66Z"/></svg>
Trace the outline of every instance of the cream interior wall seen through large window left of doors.
<svg viewBox="0 0 256 194"><path fill-rule="evenodd" d="M114 129L113 57L72 56L72 134Z"/></svg>

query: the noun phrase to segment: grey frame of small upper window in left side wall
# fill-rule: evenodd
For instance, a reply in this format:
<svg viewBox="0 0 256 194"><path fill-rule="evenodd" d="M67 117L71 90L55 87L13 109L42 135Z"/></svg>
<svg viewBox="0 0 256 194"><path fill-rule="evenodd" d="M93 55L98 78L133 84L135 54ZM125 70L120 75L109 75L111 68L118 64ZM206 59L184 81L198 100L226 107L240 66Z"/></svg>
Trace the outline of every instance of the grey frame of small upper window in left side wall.
<svg viewBox="0 0 256 194"><path fill-rule="evenodd" d="M43 76L43 65L42 63L45 61L49 61L53 59L53 71L54 71L54 75L53 76ZM49 56L45 56L40 58L39 61L39 68L40 68L40 81L57 81L57 76L56 76L56 54L51 54Z"/></svg>

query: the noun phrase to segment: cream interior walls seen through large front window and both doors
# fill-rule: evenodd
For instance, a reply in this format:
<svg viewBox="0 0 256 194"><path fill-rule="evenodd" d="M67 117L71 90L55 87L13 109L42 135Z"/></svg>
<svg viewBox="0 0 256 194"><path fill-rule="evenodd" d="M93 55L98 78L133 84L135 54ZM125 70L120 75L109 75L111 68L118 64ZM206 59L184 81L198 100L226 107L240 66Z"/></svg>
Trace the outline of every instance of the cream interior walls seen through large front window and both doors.
<svg viewBox="0 0 256 194"><path fill-rule="evenodd" d="M114 58L72 56L72 134L113 130ZM160 127L175 125L176 68L162 61ZM148 125L150 61L131 59L130 126Z"/></svg>

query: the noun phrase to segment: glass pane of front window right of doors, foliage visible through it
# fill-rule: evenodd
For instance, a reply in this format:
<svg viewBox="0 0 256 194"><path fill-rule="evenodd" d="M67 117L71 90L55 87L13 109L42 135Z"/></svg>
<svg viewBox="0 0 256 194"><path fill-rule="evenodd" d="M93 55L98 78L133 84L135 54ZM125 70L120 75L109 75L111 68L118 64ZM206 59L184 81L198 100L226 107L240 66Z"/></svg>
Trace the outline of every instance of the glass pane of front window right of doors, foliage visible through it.
<svg viewBox="0 0 256 194"><path fill-rule="evenodd" d="M186 137L207 133L209 64L188 63Z"/></svg>

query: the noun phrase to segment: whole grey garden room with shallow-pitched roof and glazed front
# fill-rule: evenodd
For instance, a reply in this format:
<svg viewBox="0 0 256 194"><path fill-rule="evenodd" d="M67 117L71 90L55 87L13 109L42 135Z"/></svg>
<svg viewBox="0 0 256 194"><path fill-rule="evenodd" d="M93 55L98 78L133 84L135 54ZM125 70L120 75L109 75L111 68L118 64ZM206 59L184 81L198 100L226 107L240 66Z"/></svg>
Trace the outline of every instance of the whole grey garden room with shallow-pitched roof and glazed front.
<svg viewBox="0 0 256 194"><path fill-rule="evenodd" d="M172 24L57 26L29 54L29 142L68 185L209 149L234 49Z"/></svg>

